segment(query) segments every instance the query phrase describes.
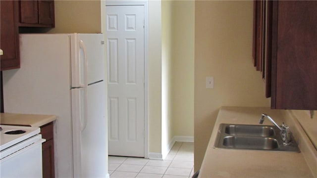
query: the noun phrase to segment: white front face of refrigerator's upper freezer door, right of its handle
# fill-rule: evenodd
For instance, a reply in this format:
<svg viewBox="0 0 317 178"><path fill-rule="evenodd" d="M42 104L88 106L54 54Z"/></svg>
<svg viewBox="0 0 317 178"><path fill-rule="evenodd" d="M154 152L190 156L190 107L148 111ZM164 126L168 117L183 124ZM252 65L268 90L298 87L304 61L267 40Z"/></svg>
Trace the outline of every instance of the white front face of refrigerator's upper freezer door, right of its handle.
<svg viewBox="0 0 317 178"><path fill-rule="evenodd" d="M87 49L88 84L105 80L104 34L78 34Z"/></svg>

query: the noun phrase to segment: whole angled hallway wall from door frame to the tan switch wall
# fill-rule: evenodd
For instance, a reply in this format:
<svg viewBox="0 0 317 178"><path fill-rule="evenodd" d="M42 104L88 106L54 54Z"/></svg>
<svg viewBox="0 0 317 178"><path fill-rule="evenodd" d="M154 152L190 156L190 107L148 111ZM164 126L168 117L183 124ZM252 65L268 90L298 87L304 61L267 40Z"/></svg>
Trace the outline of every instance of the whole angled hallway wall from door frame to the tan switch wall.
<svg viewBox="0 0 317 178"><path fill-rule="evenodd" d="M164 156L174 136L194 136L195 1L149 2L150 153Z"/></svg>

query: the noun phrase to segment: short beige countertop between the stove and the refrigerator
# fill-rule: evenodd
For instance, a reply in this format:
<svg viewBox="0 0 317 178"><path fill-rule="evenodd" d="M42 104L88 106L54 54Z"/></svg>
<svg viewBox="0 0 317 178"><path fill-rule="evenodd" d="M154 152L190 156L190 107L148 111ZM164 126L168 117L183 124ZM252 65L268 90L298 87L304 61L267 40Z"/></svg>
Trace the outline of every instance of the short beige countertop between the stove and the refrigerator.
<svg viewBox="0 0 317 178"><path fill-rule="evenodd" d="M55 115L1 113L0 124L41 127L56 120Z"/></svg>

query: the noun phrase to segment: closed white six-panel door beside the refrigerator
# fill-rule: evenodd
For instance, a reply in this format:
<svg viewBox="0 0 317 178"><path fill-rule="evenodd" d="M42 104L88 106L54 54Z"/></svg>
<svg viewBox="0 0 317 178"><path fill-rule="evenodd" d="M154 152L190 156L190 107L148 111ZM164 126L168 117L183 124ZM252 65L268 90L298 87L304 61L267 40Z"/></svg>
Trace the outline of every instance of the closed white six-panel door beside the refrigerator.
<svg viewBox="0 0 317 178"><path fill-rule="evenodd" d="M108 154L144 157L144 6L106 6Z"/></svg>

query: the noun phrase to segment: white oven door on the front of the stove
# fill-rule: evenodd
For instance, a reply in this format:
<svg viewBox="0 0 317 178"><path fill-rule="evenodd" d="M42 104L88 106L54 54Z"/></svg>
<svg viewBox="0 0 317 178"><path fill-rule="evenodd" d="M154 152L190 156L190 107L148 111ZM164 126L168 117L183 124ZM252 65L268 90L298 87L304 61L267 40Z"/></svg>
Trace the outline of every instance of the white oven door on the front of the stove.
<svg viewBox="0 0 317 178"><path fill-rule="evenodd" d="M0 177L42 178L42 135L38 134L0 152Z"/></svg>

